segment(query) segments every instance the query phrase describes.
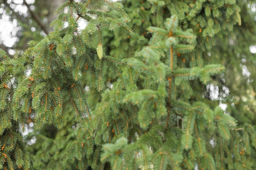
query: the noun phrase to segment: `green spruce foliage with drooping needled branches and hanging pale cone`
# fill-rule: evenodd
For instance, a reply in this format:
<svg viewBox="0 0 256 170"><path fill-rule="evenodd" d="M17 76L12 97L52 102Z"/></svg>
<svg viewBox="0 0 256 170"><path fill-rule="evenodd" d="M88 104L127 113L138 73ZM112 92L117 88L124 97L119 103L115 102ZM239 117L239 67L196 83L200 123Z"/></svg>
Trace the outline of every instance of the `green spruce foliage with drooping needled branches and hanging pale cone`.
<svg viewBox="0 0 256 170"><path fill-rule="evenodd" d="M123 3L67 0L55 11L54 31L31 40L21 57L0 50L0 169L255 169L254 127L236 130L236 119L198 88L225 71L212 48L217 34L235 36L241 4ZM92 107L85 86L101 95ZM68 130L55 139L34 133L43 142L29 155L21 135L28 120L38 130Z"/></svg>

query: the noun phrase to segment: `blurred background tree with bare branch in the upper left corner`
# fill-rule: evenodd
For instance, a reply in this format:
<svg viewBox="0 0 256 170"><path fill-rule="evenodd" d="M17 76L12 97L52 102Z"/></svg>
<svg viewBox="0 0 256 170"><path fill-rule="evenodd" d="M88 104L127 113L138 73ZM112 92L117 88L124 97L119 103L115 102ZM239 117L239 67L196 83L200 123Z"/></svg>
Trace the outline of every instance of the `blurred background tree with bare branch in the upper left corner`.
<svg viewBox="0 0 256 170"><path fill-rule="evenodd" d="M2 39L6 35L1 36L1 48L7 52L13 49L16 55L20 55L27 49L29 40L41 40L53 31L49 24L56 19L54 10L63 4L63 0L0 0L0 4L0 22L4 23L3 17L8 18L13 24L9 36L16 38L16 41L10 42L13 46L6 46ZM7 27L2 24L2 28Z"/></svg>

